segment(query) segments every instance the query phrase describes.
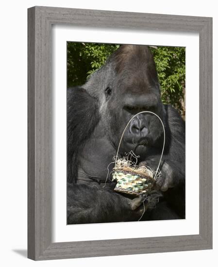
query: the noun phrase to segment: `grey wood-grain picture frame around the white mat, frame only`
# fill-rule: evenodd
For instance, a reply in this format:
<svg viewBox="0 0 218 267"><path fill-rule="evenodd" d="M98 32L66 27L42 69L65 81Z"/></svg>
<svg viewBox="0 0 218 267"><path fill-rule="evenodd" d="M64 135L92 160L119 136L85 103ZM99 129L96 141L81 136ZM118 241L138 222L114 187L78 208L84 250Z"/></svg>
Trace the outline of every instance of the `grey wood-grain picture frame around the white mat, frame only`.
<svg viewBox="0 0 218 267"><path fill-rule="evenodd" d="M51 25L199 33L200 233L51 242ZM96 257L212 249L212 18L32 7L28 9L28 258Z"/></svg>

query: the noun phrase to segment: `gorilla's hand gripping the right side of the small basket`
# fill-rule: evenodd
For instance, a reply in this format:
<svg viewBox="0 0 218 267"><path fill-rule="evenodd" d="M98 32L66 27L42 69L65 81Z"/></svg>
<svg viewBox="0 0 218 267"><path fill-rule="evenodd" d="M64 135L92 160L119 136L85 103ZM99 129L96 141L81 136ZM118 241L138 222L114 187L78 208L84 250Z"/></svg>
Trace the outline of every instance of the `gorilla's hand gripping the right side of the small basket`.
<svg viewBox="0 0 218 267"><path fill-rule="evenodd" d="M160 161L160 156L155 156L139 163L140 166L150 167L152 172L157 170ZM161 176L157 178L156 189L160 189L165 192L168 188L175 186L175 178L173 168L169 165L167 161L161 161L159 169L161 170Z"/></svg>

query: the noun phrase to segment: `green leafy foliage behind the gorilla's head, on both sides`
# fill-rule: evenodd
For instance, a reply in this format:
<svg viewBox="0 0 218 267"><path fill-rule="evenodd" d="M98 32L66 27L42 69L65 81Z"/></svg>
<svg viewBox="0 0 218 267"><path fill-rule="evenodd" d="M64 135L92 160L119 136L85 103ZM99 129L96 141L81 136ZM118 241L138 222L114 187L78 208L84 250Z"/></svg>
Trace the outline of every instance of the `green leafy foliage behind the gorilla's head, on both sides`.
<svg viewBox="0 0 218 267"><path fill-rule="evenodd" d="M116 44L67 42L67 86L84 84L117 48ZM151 46L150 49L163 103L173 105L185 118L185 48Z"/></svg>

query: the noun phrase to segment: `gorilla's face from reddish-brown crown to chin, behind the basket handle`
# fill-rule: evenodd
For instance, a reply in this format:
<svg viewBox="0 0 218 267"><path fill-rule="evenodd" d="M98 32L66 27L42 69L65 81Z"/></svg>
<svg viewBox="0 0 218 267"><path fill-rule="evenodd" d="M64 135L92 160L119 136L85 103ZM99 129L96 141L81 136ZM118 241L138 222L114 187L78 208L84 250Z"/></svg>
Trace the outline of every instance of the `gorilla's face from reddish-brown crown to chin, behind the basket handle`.
<svg viewBox="0 0 218 267"><path fill-rule="evenodd" d="M155 63L146 46L121 46L112 56L116 79L104 90L101 114L104 127L115 147L129 120L141 111L151 111L164 120L164 108ZM109 62L110 62L109 60ZM109 122L109 123L108 123ZM134 150L145 155L163 142L160 120L152 114L140 114L131 121L121 143L121 153Z"/></svg>

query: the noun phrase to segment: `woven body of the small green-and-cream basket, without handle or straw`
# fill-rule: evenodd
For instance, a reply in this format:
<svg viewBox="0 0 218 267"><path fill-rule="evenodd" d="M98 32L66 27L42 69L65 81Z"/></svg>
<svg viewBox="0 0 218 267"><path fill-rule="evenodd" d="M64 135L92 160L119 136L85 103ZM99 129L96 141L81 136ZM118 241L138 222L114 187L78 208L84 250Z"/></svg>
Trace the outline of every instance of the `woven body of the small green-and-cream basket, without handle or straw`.
<svg viewBox="0 0 218 267"><path fill-rule="evenodd" d="M153 177L131 167L115 167L112 175L113 181L117 181L115 191L136 197L150 191L155 182Z"/></svg>

